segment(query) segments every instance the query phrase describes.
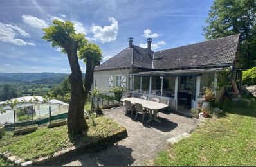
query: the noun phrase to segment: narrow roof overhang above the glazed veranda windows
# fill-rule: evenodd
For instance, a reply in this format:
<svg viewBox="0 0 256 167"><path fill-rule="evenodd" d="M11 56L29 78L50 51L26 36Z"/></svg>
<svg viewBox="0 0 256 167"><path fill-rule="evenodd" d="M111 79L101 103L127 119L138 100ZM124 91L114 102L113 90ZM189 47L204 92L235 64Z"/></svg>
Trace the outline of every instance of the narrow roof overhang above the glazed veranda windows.
<svg viewBox="0 0 256 167"><path fill-rule="evenodd" d="M138 77L149 77L149 76L200 76L202 73L214 73L223 71L224 68L213 68L213 69L179 69L172 71L148 71L131 73L131 75Z"/></svg>

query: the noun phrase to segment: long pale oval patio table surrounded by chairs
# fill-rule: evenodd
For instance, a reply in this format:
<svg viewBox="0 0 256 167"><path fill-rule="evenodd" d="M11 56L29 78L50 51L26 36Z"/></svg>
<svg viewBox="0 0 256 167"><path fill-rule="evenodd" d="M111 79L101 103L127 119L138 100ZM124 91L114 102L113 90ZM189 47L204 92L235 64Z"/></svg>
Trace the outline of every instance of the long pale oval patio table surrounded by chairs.
<svg viewBox="0 0 256 167"><path fill-rule="evenodd" d="M147 121L147 123L149 123L150 121L157 121L158 123L161 123L161 121L158 120L158 118L157 118L158 110L168 107L168 105L163 104L163 103L157 103L154 101L143 100L140 98L123 98L123 99L121 99L121 101L123 101L123 102L125 100L131 101L132 104L140 103L140 104L142 104L142 107L144 107L145 109L149 109L150 118L149 118L149 121ZM154 112L153 117L152 117L152 111Z"/></svg>

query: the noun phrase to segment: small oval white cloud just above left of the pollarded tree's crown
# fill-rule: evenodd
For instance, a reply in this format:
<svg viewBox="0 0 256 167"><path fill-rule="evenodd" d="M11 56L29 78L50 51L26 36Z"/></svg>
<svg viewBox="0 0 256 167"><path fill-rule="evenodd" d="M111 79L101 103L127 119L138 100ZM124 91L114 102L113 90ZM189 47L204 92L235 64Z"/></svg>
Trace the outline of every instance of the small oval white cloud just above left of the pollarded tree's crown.
<svg viewBox="0 0 256 167"><path fill-rule="evenodd" d="M48 24L46 21L44 21L43 19L39 19L37 17L33 17L32 15L23 15L21 16L23 18L23 22L35 27L35 28L47 28Z"/></svg>

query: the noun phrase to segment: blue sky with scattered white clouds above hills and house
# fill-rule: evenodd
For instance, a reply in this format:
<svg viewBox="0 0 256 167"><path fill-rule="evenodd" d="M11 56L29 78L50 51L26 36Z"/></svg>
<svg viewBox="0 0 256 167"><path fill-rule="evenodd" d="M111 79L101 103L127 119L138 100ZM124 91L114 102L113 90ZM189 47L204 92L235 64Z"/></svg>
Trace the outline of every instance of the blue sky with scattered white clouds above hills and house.
<svg viewBox="0 0 256 167"><path fill-rule="evenodd" d="M0 72L70 73L60 48L42 39L54 19L71 21L77 33L102 49L103 61L133 44L152 50L205 40L205 19L212 0L1 0ZM80 60L82 72L86 66Z"/></svg>

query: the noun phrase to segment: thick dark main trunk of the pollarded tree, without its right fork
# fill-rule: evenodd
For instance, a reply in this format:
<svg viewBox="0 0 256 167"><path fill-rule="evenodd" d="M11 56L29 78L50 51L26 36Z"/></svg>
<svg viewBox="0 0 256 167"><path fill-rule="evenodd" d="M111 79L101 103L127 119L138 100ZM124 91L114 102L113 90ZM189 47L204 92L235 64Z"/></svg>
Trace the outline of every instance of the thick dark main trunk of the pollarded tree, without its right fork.
<svg viewBox="0 0 256 167"><path fill-rule="evenodd" d="M71 84L71 98L68 108L68 133L84 134L87 133L88 125L84 119L84 105L86 102L85 91L82 83L82 71L77 57L77 47L66 48L71 74L69 82ZM87 69L87 68L86 68Z"/></svg>

